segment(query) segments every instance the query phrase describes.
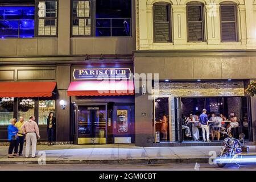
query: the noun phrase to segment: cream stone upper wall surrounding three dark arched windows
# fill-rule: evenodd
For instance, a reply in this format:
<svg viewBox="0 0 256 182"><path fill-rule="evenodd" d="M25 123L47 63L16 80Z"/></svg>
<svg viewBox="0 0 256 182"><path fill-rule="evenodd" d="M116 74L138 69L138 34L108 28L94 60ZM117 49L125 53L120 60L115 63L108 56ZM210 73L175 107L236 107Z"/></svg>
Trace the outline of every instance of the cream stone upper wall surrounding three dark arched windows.
<svg viewBox="0 0 256 182"><path fill-rule="evenodd" d="M186 4L191 0L140 0L137 22L139 38L137 50L172 50L172 49L255 49L256 48L256 3L253 0L230 0L237 4L238 42L221 42L220 3L223 0L198 0L204 3L205 42L187 42ZM171 4L172 42L153 42L152 7L156 2Z"/></svg>

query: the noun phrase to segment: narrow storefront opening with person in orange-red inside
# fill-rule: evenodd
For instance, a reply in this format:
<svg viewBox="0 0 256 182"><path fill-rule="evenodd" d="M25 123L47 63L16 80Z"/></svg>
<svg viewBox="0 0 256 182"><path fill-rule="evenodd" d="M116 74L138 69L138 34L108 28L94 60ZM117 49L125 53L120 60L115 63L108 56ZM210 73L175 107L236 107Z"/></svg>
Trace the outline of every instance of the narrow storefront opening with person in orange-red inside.
<svg viewBox="0 0 256 182"><path fill-rule="evenodd" d="M169 125L169 99L155 99L155 142L167 142L170 140Z"/></svg>

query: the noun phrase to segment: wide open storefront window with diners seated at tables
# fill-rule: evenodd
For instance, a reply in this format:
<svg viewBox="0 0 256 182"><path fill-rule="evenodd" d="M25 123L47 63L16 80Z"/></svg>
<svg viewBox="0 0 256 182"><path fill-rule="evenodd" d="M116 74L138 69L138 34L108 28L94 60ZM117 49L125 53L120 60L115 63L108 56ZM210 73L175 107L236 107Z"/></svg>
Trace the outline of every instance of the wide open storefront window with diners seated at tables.
<svg viewBox="0 0 256 182"><path fill-rule="evenodd" d="M181 98L180 100L182 140L203 140L203 133L199 125L199 116L203 109L207 109L210 140L224 139L224 132L229 132L229 129L230 135L235 138L243 133L245 139L250 139L249 110L246 97ZM233 125L234 123L237 125ZM183 129L189 130L191 137L186 135Z"/></svg>

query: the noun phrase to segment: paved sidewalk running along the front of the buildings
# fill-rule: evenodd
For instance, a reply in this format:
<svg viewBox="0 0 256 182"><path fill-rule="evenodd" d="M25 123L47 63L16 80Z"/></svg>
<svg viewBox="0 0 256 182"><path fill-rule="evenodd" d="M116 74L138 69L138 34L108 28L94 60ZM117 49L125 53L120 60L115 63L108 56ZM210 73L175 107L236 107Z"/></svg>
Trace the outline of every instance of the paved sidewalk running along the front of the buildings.
<svg viewBox="0 0 256 182"><path fill-rule="evenodd" d="M136 147L133 144L38 146L36 154L46 152L46 164L160 164L207 163L212 147ZM0 147L1 164L38 164L37 158L7 158L8 147ZM250 146L255 151L255 146Z"/></svg>

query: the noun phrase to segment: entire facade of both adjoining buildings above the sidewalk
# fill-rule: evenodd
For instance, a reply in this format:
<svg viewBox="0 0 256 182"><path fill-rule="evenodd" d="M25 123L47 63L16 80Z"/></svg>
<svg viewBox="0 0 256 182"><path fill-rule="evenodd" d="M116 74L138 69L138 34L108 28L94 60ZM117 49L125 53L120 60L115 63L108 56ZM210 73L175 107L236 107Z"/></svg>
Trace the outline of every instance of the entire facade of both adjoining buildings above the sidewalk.
<svg viewBox="0 0 256 182"><path fill-rule="evenodd" d="M0 140L34 114L46 141L53 112L57 142L220 144L185 134L202 140L183 118L205 108L255 142L255 16L253 0L1 1Z"/></svg>

